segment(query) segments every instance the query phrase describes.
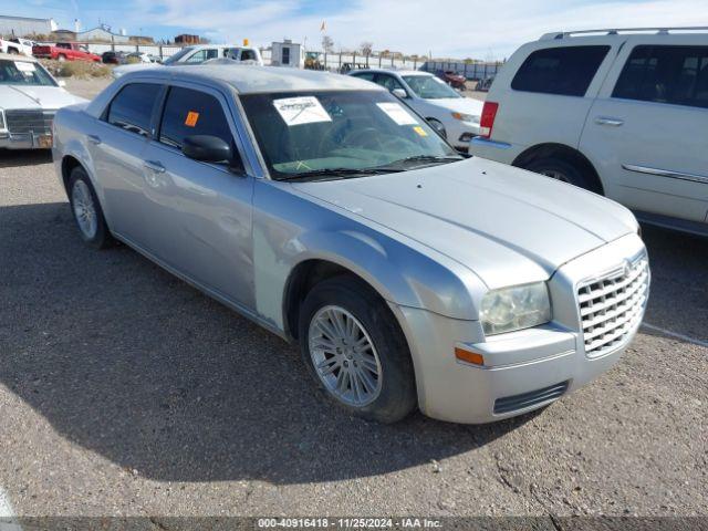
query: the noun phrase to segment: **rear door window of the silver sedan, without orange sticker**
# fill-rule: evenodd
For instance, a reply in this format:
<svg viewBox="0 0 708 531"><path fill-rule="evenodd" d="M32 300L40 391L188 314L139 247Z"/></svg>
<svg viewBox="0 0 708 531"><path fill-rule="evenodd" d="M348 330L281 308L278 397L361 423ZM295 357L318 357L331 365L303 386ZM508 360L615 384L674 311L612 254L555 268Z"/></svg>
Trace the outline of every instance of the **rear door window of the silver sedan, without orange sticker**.
<svg viewBox="0 0 708 531"><path fill-rule="evenodd" d="M125 85L108 107L107 122L132 133L147 136L153 107L162 86L154 83Z"/></svg>

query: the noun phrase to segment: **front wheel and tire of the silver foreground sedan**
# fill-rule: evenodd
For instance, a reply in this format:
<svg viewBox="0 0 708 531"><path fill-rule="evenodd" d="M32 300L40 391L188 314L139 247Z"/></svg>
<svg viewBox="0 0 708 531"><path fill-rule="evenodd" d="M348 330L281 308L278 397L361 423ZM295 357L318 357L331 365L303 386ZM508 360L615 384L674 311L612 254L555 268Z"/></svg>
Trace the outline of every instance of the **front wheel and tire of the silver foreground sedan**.
<svg viewBox="0 0 708 531"><path fill-rule="evenodd" d="M324 394L351 415L395 423L416 406L410 352L394 315L362 281L316 284L300 309L300 351Z"/></svg>

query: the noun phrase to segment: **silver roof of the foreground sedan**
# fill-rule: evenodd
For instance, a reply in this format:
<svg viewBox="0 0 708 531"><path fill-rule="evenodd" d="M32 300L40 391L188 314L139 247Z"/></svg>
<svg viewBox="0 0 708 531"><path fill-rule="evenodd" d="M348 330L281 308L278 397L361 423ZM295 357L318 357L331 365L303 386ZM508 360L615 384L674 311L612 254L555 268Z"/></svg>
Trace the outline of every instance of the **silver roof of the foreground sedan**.
<svg viewBox="0 0 708 531"><path fill-rule="evenodd" d="M124 77L140 74L158 76L165 80L219 81L231 85L239 94L317 91L317 90L385 90L368 81L350 75L333 74L313 70L288 69L282 66L258 66L252 64L199 64L191 66L170 66L169 69L149 69L126 74Z"/></svg>

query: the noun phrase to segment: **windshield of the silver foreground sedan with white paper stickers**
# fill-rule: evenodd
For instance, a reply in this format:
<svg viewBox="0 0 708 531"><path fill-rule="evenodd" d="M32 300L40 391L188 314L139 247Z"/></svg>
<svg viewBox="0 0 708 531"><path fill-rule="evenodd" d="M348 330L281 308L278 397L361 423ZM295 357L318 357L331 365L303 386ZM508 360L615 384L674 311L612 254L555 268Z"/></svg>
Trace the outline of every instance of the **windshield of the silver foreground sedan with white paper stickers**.
<svg viewBox="0 0 708 531"><path fill-rule="evenodd" d="M461 159L385 91L251 94L241 102L274 179L402 171Z"/></svg>

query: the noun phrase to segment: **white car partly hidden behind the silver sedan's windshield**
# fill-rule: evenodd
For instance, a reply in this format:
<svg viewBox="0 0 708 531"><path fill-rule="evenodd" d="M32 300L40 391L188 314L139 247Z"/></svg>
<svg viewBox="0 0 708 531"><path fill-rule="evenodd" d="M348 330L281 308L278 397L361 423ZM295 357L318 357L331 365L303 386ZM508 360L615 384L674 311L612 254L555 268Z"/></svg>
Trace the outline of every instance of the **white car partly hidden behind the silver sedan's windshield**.
<svg viewBox="0 0 708 531"><path fill-rule="evenodd" d="M417 70L357 70L350 75L373 81L402 98L458 150L479 136L482 102L461 96L439 77Z"/></svg>

